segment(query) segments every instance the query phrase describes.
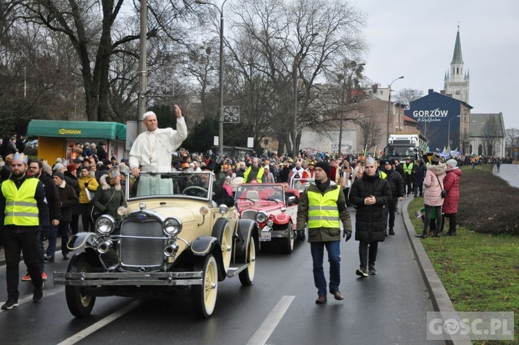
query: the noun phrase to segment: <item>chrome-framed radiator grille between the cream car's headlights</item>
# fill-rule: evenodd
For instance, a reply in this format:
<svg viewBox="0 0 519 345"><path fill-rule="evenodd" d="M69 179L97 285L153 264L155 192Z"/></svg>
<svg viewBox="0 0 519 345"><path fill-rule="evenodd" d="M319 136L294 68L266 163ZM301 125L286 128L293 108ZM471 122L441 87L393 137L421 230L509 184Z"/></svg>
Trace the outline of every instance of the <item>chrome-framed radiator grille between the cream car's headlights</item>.
<svg viewBox="0 0 519 345"><path fill-rule="evenodd" d="M124 222L120 229L119 260L126 267L160 267L165 235L160 222Z"/></svg>

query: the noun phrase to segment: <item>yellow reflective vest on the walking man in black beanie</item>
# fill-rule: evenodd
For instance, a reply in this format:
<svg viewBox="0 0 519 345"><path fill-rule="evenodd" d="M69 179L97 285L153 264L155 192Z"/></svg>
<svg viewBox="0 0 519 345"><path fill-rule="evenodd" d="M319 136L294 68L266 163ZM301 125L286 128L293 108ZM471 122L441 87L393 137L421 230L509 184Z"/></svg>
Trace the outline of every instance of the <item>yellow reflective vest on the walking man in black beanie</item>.
<svg viewBox="0 0 519 345"><path fill-rule="evenodd" d="M322 195L308 191L308 227L309 228L338 228L340 227L337 200L340 189L335 188Z"/></svg>

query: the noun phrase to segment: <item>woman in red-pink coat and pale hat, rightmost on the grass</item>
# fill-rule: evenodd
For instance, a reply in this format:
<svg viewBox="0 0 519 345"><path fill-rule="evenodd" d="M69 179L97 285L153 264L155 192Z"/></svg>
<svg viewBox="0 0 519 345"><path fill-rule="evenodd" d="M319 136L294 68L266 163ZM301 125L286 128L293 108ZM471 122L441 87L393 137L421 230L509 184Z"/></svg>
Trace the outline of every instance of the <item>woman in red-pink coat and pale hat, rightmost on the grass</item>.
<svg viewBox="0 0 519 345"><path fill-rule="evenodd" d="M441 211L444 213L441 217L441 231L444 231L445 218L448 218L447 236L456 235L456 213L457 204L459 202L459 177L462 176L462 170L457 168L457 161L449 159L447 161L447 175L444 179L444 189L447 191L447 197Z"/></svg>

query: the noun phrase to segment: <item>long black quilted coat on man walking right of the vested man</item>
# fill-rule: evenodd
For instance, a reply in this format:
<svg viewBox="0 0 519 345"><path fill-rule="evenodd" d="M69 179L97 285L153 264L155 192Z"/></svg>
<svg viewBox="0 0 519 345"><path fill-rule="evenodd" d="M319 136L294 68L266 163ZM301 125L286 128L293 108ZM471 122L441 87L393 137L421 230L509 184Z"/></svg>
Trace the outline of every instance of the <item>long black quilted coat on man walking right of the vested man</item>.
<svg viewBox="0 0 519 345"><path fill-rule="evenodd" d="M398 172L397 172L398 174ZM364 204L364 199L373 195L376 203ZM365 242L383 242L385 240L384 205L392 200L391 187L379 174L356 179L349 191L349 202L357 206L355 217L355 240Z"/></svg>

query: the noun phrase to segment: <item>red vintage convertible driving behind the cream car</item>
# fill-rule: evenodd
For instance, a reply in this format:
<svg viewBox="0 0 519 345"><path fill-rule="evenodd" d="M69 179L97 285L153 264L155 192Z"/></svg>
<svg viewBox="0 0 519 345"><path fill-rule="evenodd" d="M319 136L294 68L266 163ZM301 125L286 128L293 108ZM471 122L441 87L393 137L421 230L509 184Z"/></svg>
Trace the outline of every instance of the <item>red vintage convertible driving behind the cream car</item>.
<svg viewBox="0 0 519 345"><path fill-rule="evenodd" d="M286 254L293 251L295 238L305 238L304 231L295 231L298 201L299 192L285 193L283 184L239 184L235 193L240 218L257 223L260 244L277 242Z"/></svg>

